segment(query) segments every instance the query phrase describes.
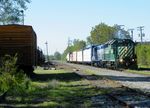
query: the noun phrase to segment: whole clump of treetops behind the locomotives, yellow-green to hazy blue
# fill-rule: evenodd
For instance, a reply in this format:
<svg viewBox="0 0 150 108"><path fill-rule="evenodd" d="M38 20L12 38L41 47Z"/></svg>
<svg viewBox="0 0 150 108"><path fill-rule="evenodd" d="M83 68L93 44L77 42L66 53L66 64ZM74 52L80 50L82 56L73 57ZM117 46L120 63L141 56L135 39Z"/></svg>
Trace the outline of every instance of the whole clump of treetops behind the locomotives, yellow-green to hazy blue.
<svg viewBox="0 0 150 108"><path fill-rule="evenodd" d="M91 35L87 37L87 44L103 44L112 38L130 38L129 33L119 25L108 26L100 23L92 28Z"/></svg>

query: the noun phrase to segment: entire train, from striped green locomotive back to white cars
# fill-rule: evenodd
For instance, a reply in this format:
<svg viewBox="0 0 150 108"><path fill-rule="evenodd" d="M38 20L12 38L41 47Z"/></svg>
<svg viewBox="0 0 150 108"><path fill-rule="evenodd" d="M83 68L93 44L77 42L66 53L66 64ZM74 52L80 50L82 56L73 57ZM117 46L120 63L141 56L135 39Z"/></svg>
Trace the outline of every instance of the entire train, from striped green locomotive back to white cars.
<svg viewBox="0 0 150 108"><path fill-rule="evenodd" d="M130 39L112 39L67 54L67 62L106 68L137 68L135 43Z"/></svg>

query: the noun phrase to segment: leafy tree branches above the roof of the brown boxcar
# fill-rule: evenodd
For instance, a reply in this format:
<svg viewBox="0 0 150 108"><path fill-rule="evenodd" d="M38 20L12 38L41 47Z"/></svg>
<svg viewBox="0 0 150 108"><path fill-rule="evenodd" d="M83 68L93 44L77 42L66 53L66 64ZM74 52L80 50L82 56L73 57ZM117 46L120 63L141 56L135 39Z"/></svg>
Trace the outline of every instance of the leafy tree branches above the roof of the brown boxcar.
<svg viewBox="0 0 150 108"><path fill-rule="evenodd" d="M30 3L30 0L0 0L0 24L21 22L27 3Z"/></svg>

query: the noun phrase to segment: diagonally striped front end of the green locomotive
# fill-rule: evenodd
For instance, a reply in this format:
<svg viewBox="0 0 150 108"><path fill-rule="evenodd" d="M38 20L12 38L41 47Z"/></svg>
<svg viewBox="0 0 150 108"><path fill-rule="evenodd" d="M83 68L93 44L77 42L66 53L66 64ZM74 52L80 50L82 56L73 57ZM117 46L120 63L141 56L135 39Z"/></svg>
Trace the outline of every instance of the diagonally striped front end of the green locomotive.
<svg viewBox="0 0 150 108"><path fill-rule="evenodd" d="M118 39L116 43L116 62L119 67L132 68L137 65L135 43L130 39Z"/></svg>

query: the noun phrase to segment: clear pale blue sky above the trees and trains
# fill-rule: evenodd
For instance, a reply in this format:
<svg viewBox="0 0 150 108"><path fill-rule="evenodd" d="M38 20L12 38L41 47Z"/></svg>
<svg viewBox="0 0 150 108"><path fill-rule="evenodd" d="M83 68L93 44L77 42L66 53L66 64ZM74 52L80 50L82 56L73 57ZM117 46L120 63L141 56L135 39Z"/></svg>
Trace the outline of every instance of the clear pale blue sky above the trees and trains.
<svg viewBox="0 0 150 108"><path fill-rule="evenodd" d="M144 41L150 41L150 0L32 0L27 5L25 25L32 25L38 46L49 55L63 53L68 38L86 40L92 27L101 22L134 28L134 40L140 41L138 26L144 26Z"/></svg>

